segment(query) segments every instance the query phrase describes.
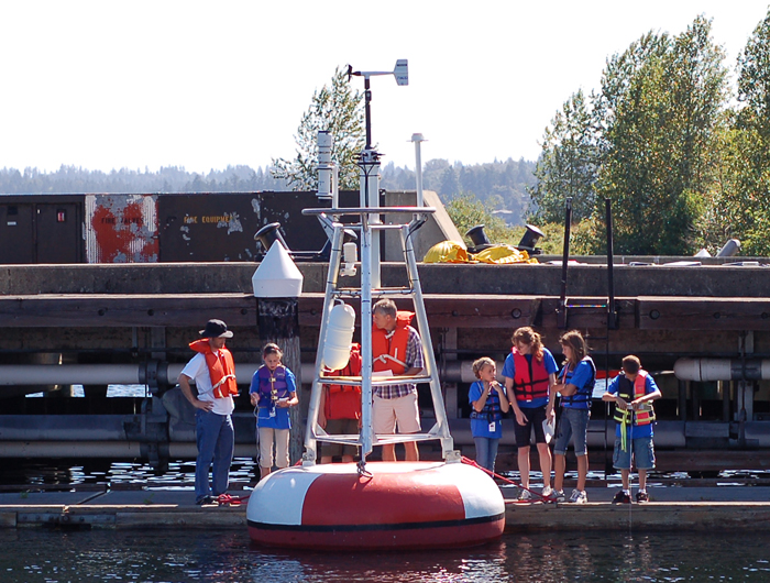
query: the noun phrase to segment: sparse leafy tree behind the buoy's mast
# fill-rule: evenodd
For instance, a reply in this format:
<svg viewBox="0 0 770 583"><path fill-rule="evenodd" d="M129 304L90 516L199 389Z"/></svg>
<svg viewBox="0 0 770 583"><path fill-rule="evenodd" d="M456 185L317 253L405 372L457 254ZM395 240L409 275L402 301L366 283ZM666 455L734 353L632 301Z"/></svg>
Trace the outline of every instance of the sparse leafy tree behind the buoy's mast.
<svg viewBox="0 0 770 583"><path fill-rule="evenodd" d="M271 173L299 190L318 187L318 132L328 131L334 140L332 161L339 168L341 189L359 188L359 153L366 144L363 97L348 81L346 69L334 70L331 86L314 92L294 136L297 155L274 158Z"/></svg>

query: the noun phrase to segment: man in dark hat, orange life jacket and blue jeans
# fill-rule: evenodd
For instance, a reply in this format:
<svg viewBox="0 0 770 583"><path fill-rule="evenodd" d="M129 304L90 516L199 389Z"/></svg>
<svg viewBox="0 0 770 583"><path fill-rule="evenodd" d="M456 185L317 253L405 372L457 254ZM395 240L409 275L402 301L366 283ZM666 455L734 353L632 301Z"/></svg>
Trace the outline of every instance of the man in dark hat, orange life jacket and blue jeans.
<svg viewBox="0 0 770 583"><path fill-rule="evenodd" d="M210 504L224 494L230 480L230 464L235 447L232 428L232 397L238 395L235 366L224 340L232 332L222 320L209 320L200 330L200 340L190 343L197 352L179 374L179 388L196 408L195 431L198 458L195 464L195 503ZM195 381L195 391L190 387ZM213 475L209 486L209 470ZM213 492L213 496L211 493Z"/></svg>

